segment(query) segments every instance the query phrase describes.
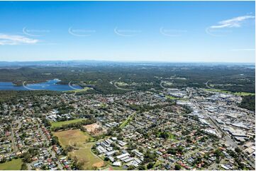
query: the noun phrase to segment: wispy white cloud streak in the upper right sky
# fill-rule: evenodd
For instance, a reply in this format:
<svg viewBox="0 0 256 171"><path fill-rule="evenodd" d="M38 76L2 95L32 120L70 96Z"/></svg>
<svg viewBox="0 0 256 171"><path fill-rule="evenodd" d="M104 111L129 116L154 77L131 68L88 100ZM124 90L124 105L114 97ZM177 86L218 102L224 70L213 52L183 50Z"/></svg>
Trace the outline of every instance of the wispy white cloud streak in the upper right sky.
<svg viewBox="0 0 256 171"><path fill-rule="evenodd" d="M255 16L239 16L229 20L222 20L218 25L212 25L210 28L239 28L243 21L255 18Z"/></svg>

